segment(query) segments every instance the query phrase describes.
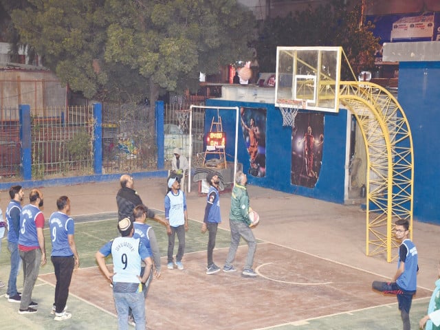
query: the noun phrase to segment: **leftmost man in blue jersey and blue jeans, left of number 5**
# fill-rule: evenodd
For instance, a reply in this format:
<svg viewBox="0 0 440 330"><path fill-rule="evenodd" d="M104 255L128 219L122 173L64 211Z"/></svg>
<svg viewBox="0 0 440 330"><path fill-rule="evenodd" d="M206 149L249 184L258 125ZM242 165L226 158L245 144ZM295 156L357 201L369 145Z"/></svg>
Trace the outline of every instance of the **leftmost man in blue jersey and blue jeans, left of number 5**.
<svg viewBox="0 0 440 330"><path fill-rule="evenodd" d="M20 303L21 294L17 291L17 275L21 266L19 254L19 232L21 202L25 193L21 186L12 186L9 189L11 200L6 208L6 222L8 223L8 250L11 254L11 270L9 272L8 291L6 298L10 303Z"/></svg>

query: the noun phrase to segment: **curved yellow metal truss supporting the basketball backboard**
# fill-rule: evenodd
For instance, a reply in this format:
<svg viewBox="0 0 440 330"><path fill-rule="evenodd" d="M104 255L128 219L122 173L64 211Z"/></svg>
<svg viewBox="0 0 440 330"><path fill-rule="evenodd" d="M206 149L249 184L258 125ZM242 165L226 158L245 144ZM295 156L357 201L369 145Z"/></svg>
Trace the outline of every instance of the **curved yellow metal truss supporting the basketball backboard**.
<svg viewBox="0 0 440 330"><path fill-rule="evenodd" d="M366 255L386 252L391 262L393 223L407 219L412 239L414 151L406 115L394 96L368 82L341 82L340 102L354 115L367 154Z"/></svg>

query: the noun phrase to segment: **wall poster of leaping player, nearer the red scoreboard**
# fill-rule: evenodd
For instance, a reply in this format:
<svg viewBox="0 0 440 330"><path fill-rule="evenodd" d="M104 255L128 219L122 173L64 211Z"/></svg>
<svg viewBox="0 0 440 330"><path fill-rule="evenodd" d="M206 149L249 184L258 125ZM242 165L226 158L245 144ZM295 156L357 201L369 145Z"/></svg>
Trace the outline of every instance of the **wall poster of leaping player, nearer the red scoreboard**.
<svg viewBox="0 0 440 330"><path fill-rule="evenodd" d="M253 177L266 175L266 119L265 108L240 108L243 139L249 153L249 174Z"/></svg>

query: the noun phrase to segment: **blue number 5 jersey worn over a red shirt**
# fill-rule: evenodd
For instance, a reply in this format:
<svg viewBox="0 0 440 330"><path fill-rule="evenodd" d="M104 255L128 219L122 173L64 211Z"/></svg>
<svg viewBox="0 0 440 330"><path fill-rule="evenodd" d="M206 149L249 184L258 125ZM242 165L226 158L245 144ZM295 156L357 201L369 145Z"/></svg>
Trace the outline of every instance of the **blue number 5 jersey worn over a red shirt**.
<svg viewBox="0 0 440 330"><path fill-rule="evenodd" d="M36 224L37 217L43 217L43 212L32 204L24 206L21 210L19 245L39 248L40 244L38 236L36 235L36 227L44 227L44 217L42 225L41 223Z"/></svg>

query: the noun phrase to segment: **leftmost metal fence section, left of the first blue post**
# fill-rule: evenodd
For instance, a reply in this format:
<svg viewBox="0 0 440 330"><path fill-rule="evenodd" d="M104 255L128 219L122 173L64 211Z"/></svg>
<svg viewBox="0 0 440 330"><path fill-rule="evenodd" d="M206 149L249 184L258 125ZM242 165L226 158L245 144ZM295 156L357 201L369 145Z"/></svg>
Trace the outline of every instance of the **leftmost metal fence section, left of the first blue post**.
<svg viewBox="0 0 440 330"><path fill-rule="evenodd" d="M0 108L0 177L20 176L20 121L18 108Z"/></svg>

